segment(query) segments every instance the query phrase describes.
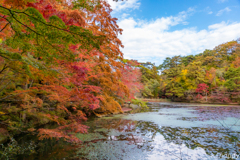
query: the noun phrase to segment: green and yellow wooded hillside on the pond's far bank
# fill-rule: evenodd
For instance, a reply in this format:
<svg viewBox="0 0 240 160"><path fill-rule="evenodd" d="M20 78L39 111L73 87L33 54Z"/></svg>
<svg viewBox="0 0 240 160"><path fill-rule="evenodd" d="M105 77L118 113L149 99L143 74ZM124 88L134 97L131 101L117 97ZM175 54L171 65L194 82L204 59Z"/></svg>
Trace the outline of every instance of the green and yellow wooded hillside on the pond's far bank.
<svg viewBox="0 0 240 160"><path fill-rule="evenodd" d="M144 97L240 103L240 40L196 55L168 57L159 66L150 62L144 66Z"/></svg>

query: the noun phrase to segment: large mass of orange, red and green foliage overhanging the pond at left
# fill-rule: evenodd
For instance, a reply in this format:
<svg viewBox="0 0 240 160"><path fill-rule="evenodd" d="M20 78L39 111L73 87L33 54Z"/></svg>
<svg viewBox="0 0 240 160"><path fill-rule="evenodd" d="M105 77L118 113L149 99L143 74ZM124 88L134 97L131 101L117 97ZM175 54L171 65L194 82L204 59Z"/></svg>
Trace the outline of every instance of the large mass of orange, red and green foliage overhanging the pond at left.
<svg viewBox="0 0 240 160"><path fill-rule="evenodd" d="M141 89L106 1L0 2L2 130L78 142L73 133L87 132L88 115L121 113ZM58 127L40 127L50 122Z"/></svg>

